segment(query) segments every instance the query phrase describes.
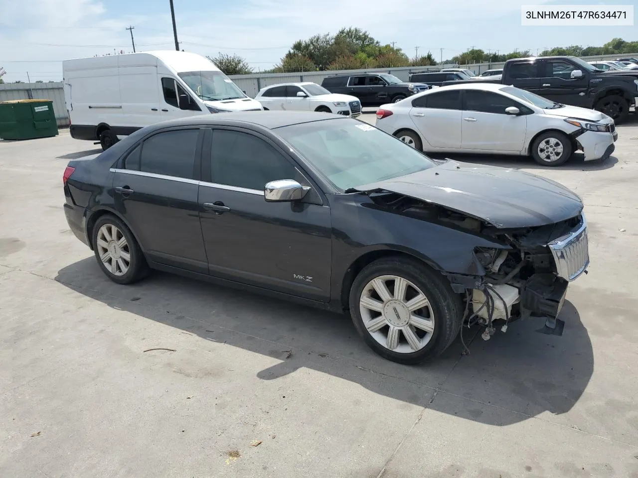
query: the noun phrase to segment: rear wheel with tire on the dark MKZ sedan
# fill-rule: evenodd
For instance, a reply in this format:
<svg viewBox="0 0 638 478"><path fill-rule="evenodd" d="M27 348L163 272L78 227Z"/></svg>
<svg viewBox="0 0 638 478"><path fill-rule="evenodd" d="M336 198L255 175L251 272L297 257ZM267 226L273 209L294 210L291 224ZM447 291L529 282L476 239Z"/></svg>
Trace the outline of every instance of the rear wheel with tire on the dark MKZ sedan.
<svg viewBox="0 0 638 478"><path fill-rule="evenodd" d="M124 222L105 214L93 226L93 250L108 279L133 284L144 277L147 264L142 249Z"/></svg>

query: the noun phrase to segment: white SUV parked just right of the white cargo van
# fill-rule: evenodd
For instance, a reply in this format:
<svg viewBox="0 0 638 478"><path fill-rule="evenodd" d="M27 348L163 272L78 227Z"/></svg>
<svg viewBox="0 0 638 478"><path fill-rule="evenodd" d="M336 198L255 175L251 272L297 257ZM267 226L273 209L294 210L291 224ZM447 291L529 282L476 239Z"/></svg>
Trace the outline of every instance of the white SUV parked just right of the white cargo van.
<svg viewBox="0 0 638 478"><path fill-rule="evenodd" d="M264 110L337 113L353 118L361 114L359 98L330 93L316 83L280 83L262 88L255 96Z"/></svg>

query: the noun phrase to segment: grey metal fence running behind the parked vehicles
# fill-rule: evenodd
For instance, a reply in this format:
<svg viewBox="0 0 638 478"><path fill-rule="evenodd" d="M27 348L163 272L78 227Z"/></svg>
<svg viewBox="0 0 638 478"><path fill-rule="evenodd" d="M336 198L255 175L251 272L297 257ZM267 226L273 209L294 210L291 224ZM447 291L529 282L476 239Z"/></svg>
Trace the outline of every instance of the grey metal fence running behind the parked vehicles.
<svg viewBox="0 0 638 478"><path fill-rule="evenodd" d="M613 55L597 55L591 57L582 57L584 61L595 60L612 60L623 57L638 57L638 53L632 54L613 54ZM462 65L461 68L468 68L480 75L488 69L503 68L503 62L494 63L473 63ZM446 65L453 67L457 65ZM408 81L411 71L435 70L440 66L405 66L403 68L366 68L366 69L350 69L341 71L306 71L298 73L252 73L251 75L231 75L230 78L248 96L255 98L260 89L274 85L276 83L292 83L292 82L314 82L321 84L326 76L340 74L355 73L391 73L403 81ZM69 115L66 111L64 103L64 90L62 82L50 83L3 83L0 84L0 101L10 99L51 99L53 101L53 110L56 113L57 126L68 126Z"/></svg>

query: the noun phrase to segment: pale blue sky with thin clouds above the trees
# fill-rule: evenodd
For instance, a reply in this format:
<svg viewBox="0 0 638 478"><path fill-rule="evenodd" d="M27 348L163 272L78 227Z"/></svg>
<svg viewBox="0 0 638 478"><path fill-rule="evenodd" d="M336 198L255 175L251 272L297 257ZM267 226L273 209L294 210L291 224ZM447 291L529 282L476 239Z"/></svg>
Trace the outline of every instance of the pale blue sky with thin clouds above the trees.
<svg viewBox="0 0 638 478"><path fill-rule="evenodd" d="M410 57L449 59L468 48L510 52L638 40L632 27L521 26L522 4L634 4L638 0L174 0L180 48L244 57L257 71L279 62L296 40L360 27ZM174 49L168 0L0 0L0 67L5 82L62 79L62 60ZM638 8L635 8L638 13Z"/></svg>

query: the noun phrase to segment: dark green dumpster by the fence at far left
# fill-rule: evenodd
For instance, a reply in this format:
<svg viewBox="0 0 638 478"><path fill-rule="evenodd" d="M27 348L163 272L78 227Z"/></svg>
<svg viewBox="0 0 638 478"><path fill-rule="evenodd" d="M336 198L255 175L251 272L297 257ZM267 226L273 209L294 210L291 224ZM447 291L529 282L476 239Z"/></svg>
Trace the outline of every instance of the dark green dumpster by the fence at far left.
<svg viewBox="0 0 638 478"><path fill-rule="evenodd" d="M0 102L0 138L31 140L48 136L57 136L53 101L14 99Z"/></svg>

